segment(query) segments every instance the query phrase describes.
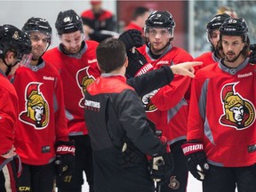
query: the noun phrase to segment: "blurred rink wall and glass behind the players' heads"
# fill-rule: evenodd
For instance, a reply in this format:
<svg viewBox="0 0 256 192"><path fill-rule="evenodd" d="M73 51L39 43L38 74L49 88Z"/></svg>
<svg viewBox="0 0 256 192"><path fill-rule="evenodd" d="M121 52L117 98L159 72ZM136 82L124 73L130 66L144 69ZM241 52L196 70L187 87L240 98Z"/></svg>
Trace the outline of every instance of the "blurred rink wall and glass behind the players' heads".
<svg viewBox="0 0 256 192"><path fill-rule="evenodd" d="M238 17L243 17L250 29L251 42L256 42L256 1L209 1L209 0L189 0L189 1L116 1L102 0L102 7L116 16L116 32L121 33L124 26L132 18L133 10L138 6L145 6L154 10L167 10L172 13L176 21L174 31L175 46L180 46L196 57L202 52L210 50L210 44L206 38L206 25L218 12L221 6L228 6L236 11ZM22 28L28 18L42 17L49 20L53 28L52 47L59 44L54 27L55 20L60 11L74 9L79 15L84 10L90 9L90 0L84 1L0 1L0 25L12 24Z"/></svg>

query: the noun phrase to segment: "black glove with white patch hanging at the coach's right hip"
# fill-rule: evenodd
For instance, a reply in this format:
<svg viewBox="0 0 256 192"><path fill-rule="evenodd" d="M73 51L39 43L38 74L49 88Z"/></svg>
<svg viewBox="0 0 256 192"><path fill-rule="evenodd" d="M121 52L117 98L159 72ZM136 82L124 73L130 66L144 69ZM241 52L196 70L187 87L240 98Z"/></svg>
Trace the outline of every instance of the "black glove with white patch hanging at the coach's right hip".
<svg viewBox="0 0 256 192"><path fill-rule="evenodd" d="M161 136L160 140L165 145L166 153L163 156L154 156L149 160L150 177L157 182L157 185L162 185L168 181L174 170L174 160L170 146L167 145L167 139Z"/></svg>

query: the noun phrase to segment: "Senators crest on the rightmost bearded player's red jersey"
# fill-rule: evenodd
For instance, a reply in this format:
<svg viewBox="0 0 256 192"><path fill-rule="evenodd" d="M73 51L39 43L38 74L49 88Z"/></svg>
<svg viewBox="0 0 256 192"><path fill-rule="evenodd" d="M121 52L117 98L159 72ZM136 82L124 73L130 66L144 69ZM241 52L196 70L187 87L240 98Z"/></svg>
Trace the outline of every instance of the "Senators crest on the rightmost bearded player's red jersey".
<svg viewBox="0 0 256 192"><path fill-rule="evenodd" d="M235 84L226 84L221 91L223 116L220 124L243 130L248 128L255 120L255 108L250 100L245 100L235 90Z"/></svg>

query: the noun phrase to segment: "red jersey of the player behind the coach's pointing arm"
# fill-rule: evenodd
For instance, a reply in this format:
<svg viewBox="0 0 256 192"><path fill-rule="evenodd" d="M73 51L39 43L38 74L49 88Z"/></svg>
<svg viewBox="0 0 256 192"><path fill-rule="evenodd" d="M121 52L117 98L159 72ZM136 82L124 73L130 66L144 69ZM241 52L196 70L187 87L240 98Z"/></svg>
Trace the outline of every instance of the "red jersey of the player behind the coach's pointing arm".
<svg viewBox="0 0 256 192"><path fill-rule="evenodd" d="M168 47L157 60L150 57L147 45L143 45L138 50L152 66L148 71L193 60L188 52L178 47ZM141 68L141 71L142 73L139 71L137 75L143 74L144 68ZM156 129L162 130L170 144L186 139L188 122L186 94L189 92L190 81L188 76L175 75L170 84L141 97L148 118L156 124Z"/></svg>

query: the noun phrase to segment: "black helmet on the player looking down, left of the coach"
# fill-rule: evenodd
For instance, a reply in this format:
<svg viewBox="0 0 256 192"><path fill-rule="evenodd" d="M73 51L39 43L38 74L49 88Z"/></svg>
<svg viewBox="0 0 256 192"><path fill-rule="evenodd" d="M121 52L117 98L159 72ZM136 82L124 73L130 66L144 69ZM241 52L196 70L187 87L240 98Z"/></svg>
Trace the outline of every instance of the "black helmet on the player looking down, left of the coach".
<svg viewBox="0 0 256 192"><path fill-rule="evenodd" d="M55 28L59 35L80 30L84 33L83 22L74 10L59 12L55 22Z"/></svg>

